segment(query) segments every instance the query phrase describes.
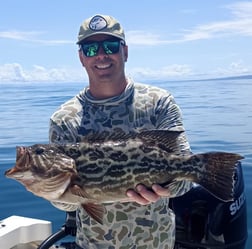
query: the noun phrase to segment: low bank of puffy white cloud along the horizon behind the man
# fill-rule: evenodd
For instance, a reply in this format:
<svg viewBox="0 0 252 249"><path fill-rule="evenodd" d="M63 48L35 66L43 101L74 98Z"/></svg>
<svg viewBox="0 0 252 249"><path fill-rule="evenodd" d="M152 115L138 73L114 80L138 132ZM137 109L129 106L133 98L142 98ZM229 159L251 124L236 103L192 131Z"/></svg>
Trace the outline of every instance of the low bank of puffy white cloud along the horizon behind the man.
<svg viewBox="0 0 252 249"><path fill-rule="evenodd" d="M252 74L252 68L242 61L232 62L226 67L195 72L189 65L173 64L160 69L130 68L126 72L137 81L150 80L186 80L200 78L216 78L235 75ZM45 68L33 65L29 70L18 63L0 65L0 84L3 82L88 82L85 70L80 68Z"/></svg>

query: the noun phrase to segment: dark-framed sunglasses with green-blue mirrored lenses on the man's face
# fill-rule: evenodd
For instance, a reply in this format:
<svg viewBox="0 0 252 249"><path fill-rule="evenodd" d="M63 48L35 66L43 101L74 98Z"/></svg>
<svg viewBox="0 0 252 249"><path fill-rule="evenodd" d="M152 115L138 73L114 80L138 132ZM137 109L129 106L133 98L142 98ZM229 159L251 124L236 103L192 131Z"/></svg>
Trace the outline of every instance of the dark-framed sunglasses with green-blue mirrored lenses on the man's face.
<svg viewBox="0 0 252 249"><path fill-rule="evenodd" d="M116 54L118 53L121 44L125 45L124 41L120 39L88 41L80 44L80 48L82 49L85 56L93 57L98 54L101 46L106 54Z"/></svg>

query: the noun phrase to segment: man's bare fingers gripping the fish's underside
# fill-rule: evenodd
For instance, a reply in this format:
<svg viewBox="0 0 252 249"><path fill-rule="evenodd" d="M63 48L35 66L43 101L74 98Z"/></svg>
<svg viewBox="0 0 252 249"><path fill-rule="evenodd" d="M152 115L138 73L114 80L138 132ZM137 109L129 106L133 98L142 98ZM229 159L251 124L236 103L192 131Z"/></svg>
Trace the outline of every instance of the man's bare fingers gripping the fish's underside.
<svg viewBox="0 0 252 249"><path fill-rule="evenodd" d="M126 195L131 201L135 201L141 205L147 205L158 201L160 197L169 197L169 191L158 184L153 184L152 190L147 189L143 184L138 184L136 191L129 189Z"/></svg>

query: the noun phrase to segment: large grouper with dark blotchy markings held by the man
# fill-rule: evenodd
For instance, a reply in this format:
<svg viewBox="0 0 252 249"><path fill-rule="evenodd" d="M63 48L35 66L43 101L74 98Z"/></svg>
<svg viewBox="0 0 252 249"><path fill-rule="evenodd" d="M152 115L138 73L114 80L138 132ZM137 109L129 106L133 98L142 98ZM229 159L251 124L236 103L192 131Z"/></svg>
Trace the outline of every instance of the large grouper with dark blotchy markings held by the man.
<svg viewBox="0 0 252 249"><path fill-rule="evenodd" d="M223 201L232 200L235 168L243 157L181 154L179 133L151 130L74 144L18 146L16 165L5 175L46 200L82 205L100 223L103 203L127 201L126 191L139 183L151 188L188 180Z"/></svg>

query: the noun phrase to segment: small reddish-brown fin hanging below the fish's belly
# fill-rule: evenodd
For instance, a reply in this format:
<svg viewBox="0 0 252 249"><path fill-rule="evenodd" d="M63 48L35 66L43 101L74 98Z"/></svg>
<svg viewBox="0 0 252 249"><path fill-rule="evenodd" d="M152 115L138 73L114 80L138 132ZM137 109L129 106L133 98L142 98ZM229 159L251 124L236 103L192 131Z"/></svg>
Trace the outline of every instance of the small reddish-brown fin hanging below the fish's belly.
<svg viewBox="0 0 252 249"><path fill-rule="evenodd" d="M87 202L83 203L81 206L85 209L90 217L92 217L98 223L103 224L103 216L106 212L106 209L102 204Z"/></svg>

